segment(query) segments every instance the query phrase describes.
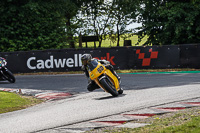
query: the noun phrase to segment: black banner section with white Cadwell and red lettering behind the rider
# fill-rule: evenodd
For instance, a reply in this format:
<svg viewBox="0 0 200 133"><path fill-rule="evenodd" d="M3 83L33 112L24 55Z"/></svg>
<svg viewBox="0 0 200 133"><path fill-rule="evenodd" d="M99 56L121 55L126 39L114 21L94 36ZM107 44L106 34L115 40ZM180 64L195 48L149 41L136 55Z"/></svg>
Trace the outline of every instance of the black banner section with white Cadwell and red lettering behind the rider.
<svg viewBox="0 0 200 133"><path fill-rule="evenodd" d="M13 73L80 71L81 56L90 53L94 58L108 60L115 69L127 68L126 49L65 49L0 53Z"/></svg>

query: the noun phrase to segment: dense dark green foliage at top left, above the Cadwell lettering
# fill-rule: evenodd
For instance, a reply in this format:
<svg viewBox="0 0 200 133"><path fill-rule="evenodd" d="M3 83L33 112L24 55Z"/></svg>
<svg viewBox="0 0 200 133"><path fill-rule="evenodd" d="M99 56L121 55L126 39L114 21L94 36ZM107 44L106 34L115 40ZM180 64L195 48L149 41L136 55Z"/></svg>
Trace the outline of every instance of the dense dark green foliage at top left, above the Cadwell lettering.
<svg viewBox="0 0 200 133"><path fill-rule="evenodd" d="M43 50L66 45L65 20L54 3L4 0L0 4L0 51Z"/></svg>

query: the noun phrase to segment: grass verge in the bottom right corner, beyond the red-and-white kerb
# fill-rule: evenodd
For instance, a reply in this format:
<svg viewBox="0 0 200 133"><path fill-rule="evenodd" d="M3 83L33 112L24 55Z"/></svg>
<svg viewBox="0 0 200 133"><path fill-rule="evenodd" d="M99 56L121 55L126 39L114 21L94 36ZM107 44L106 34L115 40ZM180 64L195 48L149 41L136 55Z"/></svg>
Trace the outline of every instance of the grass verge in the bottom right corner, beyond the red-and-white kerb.
<svg viewBox="0 0 200 133"><path fill-rule="evenodd" d="M148 123L140 128L115 128L91 130L89 133L200 133L200 107L156 115L132 123Z"/></svg>

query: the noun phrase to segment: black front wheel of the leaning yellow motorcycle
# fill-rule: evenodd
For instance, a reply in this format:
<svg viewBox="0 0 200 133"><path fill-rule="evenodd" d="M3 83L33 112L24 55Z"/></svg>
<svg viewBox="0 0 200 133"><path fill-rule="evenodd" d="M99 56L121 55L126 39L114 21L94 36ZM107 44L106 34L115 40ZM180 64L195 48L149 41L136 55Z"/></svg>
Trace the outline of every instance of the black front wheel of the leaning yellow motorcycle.
<svg viewBox="0 0 200 133"><path fill-rule="evenodd" d="M117 97L118 91L115 89L114 84L107 78L100 80L101 85L106 89L112 96Z"/></svg>

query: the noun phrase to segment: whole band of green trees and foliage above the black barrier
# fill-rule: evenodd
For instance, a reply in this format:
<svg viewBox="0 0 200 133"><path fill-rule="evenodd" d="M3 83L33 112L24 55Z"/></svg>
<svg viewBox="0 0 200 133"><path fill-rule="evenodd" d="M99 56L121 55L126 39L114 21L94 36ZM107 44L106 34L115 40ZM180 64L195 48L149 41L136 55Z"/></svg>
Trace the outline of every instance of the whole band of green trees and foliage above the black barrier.
<svg viewBox="0 0 200 133"><path fill-rule="evenodd" d="M136 19L137 18L137 19ZM199 0L1 0L0 51L75 48L82 35L117 43L136 32L138 45L199 43ZM129 36L127 36L129 35ZM120 40L123 39L123 40Z"/></svg>

